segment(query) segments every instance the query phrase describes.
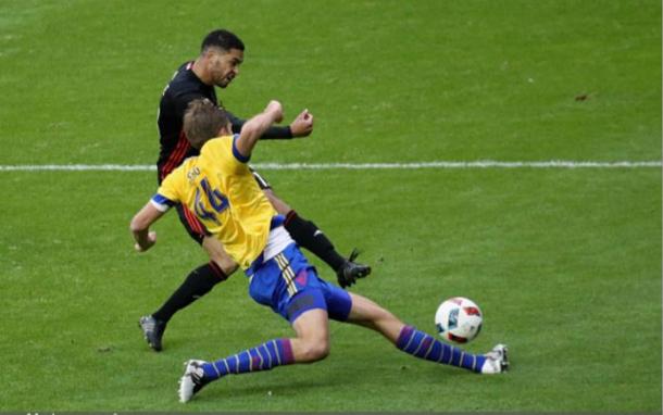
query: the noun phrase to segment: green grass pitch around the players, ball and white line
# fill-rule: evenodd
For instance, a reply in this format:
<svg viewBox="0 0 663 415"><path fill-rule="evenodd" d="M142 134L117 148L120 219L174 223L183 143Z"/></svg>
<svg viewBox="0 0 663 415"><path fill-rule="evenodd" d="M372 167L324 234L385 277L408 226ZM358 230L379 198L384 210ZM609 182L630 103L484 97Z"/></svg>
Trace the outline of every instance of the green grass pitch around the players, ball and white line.
<svg viewBox="0 0 663 415"><path fill-rule="evenodd" d="M247 45L226 106L316 117L258 163L661 160L659 1L0 0L0 166L153 164L161 90L216 27ZM0 411L661 412L661 167L262 173L363 249L374 274L353 291L428 332L441 300L470 297L485 326L467 349L505 342L512 370L333 323L324 362L183 405L182 362L291 329L238 273L153 353L138 317L205 261L175 214L133 251L155 174L0 168Z"/></svg>

